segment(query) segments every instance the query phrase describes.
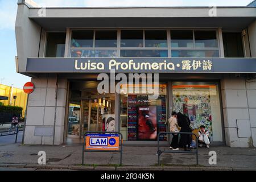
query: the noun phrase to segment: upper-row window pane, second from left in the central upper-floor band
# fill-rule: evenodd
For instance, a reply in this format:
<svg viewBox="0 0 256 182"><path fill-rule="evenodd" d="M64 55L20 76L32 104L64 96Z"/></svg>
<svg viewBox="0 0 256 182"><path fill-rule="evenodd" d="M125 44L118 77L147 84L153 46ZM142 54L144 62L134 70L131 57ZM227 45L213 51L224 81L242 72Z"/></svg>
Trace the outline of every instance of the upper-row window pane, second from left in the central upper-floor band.
<svg viewBox="0 0 256 182"><path fill-rule="evenodd" d="M95 47L117 47L117 31L96 31Z"/></svg>

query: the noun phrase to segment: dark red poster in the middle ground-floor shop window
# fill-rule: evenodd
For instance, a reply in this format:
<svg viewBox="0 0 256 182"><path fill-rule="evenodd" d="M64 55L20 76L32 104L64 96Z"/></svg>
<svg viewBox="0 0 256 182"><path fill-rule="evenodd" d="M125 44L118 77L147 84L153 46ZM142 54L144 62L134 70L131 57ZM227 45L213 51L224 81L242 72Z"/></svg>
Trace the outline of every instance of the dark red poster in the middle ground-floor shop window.
<svg viewBox="0 0 256 182"><path fill-rule="evenodd" d="M139 107L139 139L156 139L156 106Z"/></svg>

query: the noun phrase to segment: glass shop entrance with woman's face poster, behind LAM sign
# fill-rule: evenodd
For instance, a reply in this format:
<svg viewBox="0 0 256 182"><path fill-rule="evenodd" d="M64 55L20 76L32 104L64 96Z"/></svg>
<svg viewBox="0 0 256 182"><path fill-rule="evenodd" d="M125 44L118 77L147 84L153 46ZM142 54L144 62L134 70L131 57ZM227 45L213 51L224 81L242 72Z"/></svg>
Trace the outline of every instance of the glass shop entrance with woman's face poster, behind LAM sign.
<svg viewBox="0 0 256 182"><path fill-rule="evenodd" d="M82 100L81 137L86 131L114 131L114 110L114 94L88 96Z"/></svg>

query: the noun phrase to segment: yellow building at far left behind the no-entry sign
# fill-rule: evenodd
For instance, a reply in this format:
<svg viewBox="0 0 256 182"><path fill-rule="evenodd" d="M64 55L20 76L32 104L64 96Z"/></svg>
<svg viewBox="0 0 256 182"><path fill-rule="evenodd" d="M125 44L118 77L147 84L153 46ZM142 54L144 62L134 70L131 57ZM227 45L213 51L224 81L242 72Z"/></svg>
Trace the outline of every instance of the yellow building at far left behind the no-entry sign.
<svg viewBox="0 0 256 182"><path fill-rule="evenodd" d="M0 96L8 97L6 98L7 100L0 100L3 105L22 107L22 117L24 117L27 106L27 94L24 93L23 89L0 84ZM16 96L15 100L14 96Z"/></svg>

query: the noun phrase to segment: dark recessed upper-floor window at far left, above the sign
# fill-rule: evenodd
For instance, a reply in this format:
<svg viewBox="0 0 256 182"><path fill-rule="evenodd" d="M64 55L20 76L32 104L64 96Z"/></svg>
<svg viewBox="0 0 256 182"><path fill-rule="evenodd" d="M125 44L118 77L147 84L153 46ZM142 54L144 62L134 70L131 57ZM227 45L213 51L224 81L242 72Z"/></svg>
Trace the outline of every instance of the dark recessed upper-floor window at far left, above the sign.
<svg viewBox="0 0 256 182"><path fill-rule="evenodd" d="M46 57L65 56L66 32L48 32Z"/></svg>

